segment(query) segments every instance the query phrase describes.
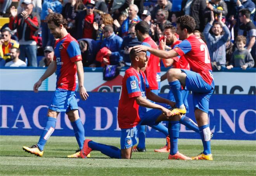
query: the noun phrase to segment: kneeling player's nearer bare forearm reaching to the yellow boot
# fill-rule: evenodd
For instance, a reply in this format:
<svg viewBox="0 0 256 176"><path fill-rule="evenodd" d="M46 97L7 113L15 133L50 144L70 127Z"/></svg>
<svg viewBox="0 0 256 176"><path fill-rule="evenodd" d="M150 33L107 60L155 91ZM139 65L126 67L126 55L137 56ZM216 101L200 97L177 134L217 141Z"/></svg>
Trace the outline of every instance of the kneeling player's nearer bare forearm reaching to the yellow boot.
<svg viewBox="0 0 256 176"><path fill-rule="evenodd" d="M170 117L172 115L171 111L169 109L166 109L165 107L163 107L161 105L154 104L154 103L150 102L149 100L143 98L142 96L135 97L135 100L136 100L137 104L140 106L161 110L167 117Z"/></svg>

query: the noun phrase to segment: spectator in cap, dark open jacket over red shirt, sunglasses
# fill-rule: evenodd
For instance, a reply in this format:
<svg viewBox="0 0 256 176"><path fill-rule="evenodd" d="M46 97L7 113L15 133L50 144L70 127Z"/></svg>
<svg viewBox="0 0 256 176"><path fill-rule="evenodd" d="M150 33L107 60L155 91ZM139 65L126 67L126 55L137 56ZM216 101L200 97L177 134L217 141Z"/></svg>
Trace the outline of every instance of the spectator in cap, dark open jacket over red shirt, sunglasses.
<svg viewBox="0 0 256 176"><path fill-rule="evenodd" d="M93 27L93 23L97 21L96 19L100 19L100 16L94 9L95 1L88 0L86 2L86 10L82 10L76 14L75 20L78 30L74 38L77 40L81 38L96 39L97 30Z"/></svg>

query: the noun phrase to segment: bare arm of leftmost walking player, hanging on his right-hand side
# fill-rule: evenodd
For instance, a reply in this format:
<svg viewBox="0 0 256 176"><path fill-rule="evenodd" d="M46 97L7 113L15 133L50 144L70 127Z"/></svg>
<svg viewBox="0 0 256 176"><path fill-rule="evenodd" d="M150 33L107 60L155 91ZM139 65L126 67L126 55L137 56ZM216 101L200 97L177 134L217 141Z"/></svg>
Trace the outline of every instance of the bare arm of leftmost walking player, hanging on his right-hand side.
<svg viewBox="0 0 256 176"><path fill-rule="evenodd" d="M83 86L83 78L84 78L83 63L81 60L79 60L79 61L76 61L75 64L76 64L77 76L78 76L79 94L82 100L86 100L89 97L89 95L86 92L85 87Z"/></svg>

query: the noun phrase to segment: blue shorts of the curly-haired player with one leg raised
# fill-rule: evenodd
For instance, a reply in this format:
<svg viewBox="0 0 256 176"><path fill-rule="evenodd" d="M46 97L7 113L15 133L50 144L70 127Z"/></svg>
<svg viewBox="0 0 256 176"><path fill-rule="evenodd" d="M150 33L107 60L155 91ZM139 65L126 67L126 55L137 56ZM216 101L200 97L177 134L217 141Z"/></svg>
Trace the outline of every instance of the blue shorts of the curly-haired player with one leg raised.
<svg viewBox="0 0 256 176"><path fill-rule="evenodd" d="M181 69L187 74L186 90L192 91L194 109L200 109L208 114L209 100L214 91L214 81L209 85L199 73Z"/></svg>

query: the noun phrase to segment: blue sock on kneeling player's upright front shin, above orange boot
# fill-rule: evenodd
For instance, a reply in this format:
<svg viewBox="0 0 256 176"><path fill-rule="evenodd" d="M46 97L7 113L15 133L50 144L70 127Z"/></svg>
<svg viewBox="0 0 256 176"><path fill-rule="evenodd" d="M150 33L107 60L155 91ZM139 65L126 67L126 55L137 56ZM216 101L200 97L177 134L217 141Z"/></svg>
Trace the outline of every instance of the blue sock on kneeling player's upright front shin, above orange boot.
<svg viewBox="0 0 256 176"><path fill-rule="evenodd" d="M178 137L180 132L180 122L179 121L170 121L168 128L170 130L170 143L171 150L170 154L175 155L178 152Z"/></svg>

